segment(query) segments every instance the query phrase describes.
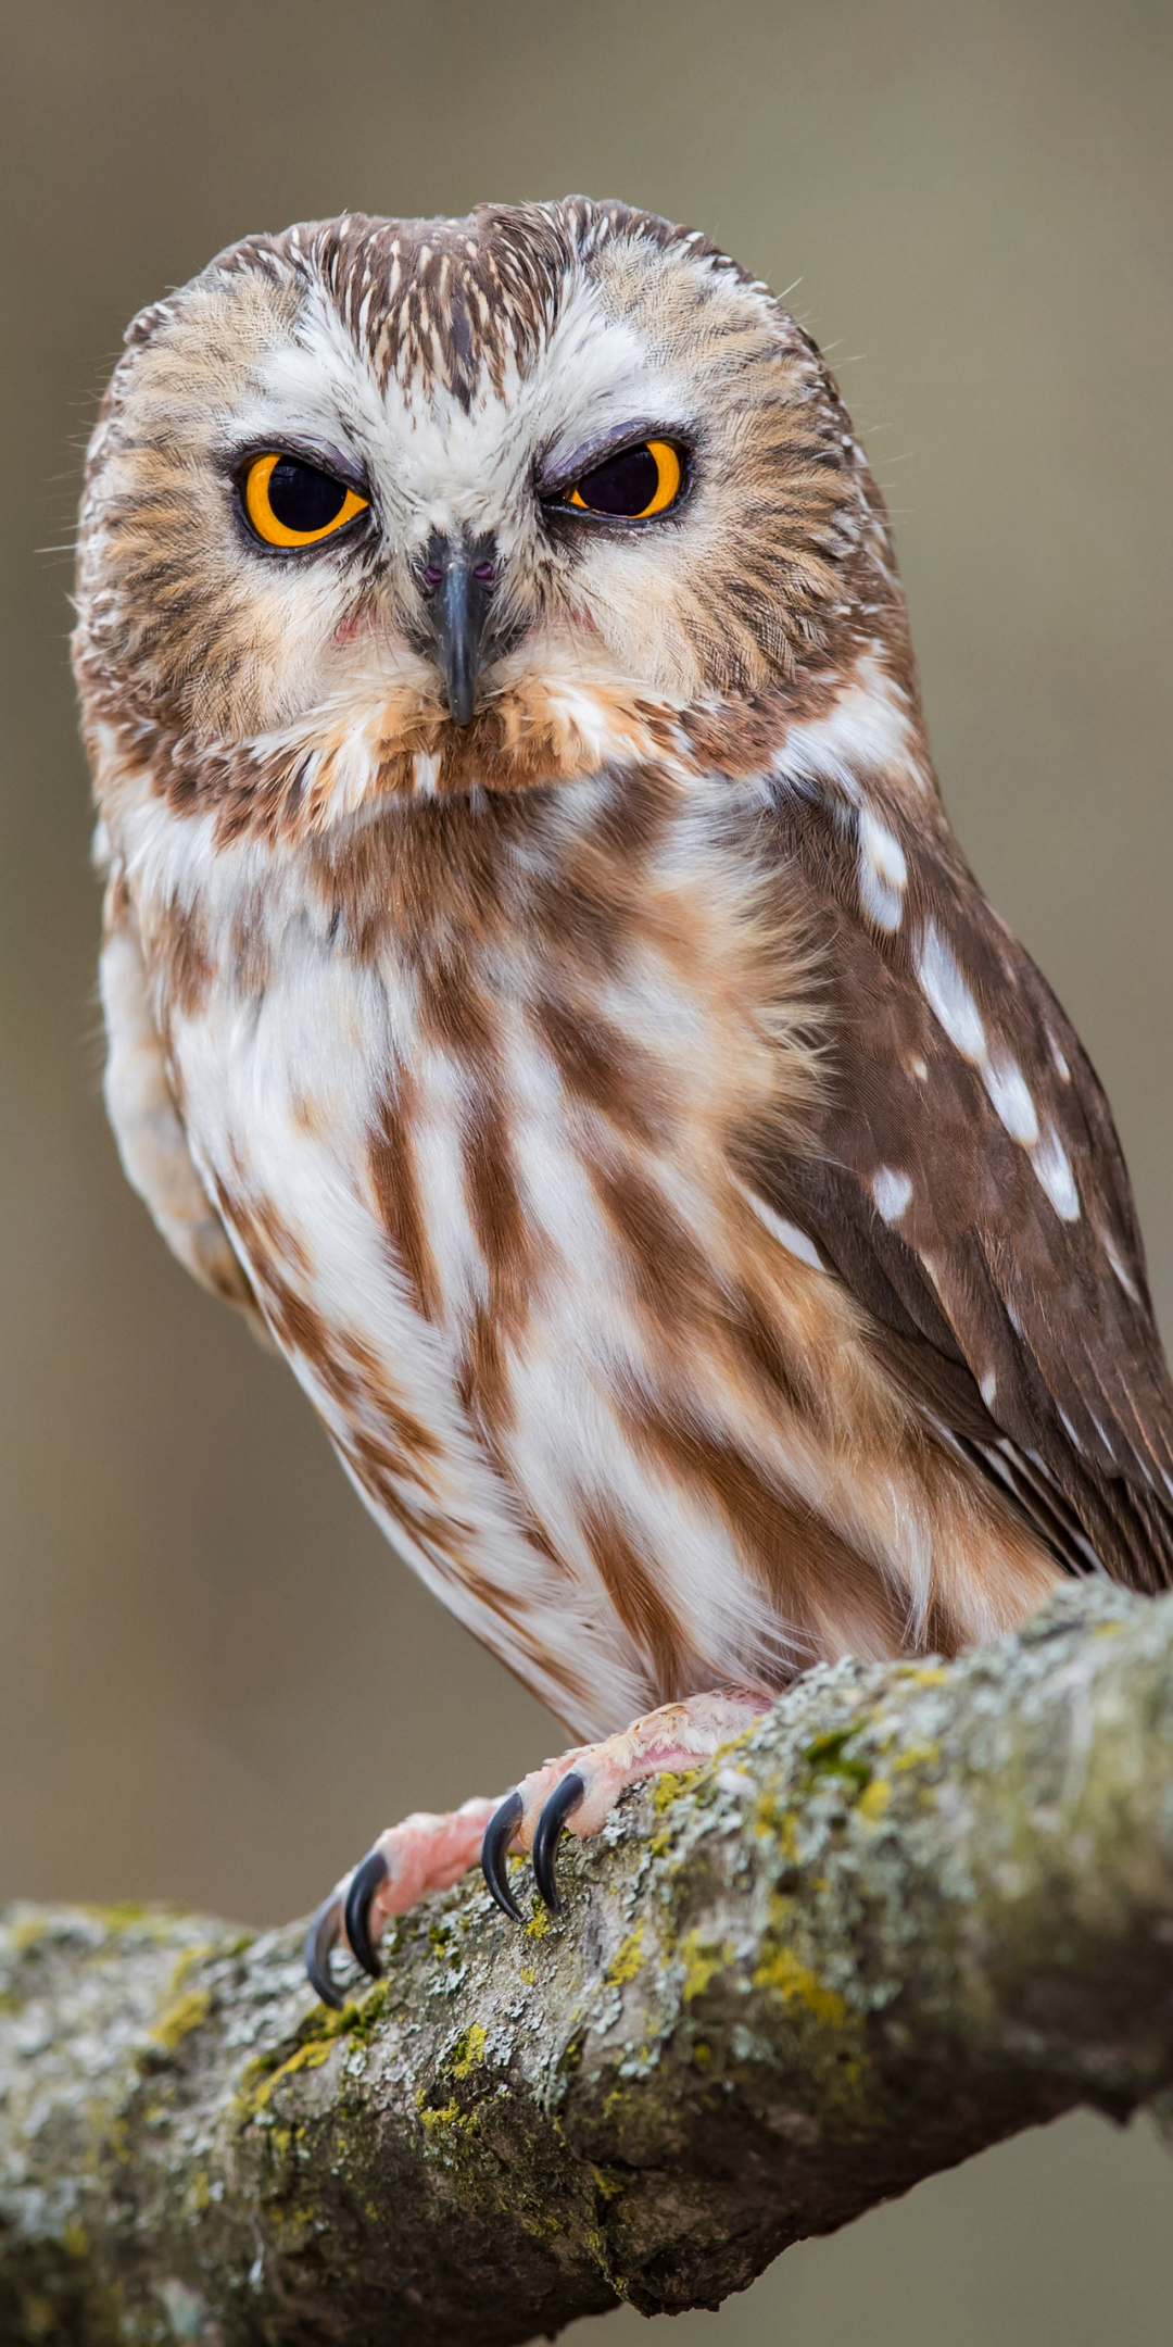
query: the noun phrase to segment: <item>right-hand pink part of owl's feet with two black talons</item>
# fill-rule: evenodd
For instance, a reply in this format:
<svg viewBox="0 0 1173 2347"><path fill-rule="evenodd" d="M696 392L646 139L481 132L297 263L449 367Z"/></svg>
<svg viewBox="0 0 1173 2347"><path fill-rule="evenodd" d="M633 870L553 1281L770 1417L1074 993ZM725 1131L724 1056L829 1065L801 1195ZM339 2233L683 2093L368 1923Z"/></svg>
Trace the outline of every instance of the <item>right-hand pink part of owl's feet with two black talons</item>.
<svg viewBox="0 0 1173 2347"><path fill-rule="evenodd" d="M598 1833L605 1817L643 1777L697 1767L723 1744L744 1737L753 1720L769 1711L772 1695L755 1687L723 1687L720 1695L690 1695L683 1704L664 1704L633 1720L603 1744L579 1744L561 1760L547 1760L504 1795L493 1812L481 1845L486 1882L502 1908L521 1922L521 1908L504 1873L509 1849L533 1852L533 1878L551 1915L561 1913L554 1859L563 1831Z"/></svg>

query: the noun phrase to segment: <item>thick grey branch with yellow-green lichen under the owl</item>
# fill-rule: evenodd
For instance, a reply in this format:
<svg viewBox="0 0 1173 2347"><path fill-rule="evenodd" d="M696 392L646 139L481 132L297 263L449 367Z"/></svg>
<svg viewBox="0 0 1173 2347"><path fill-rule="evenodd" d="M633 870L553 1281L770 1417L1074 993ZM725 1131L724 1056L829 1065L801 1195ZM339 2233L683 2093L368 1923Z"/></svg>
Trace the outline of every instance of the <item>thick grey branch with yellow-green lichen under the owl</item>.
<svg viewBox="0 0 1173 2347"><path fill-rule="evenodd" d="M967 2152L1173 2079L1173 1598L814 1671L326 2014L298 1932L16 1908L5 2342L528 2340L716 2305ZM518 1878L521 1885L523 1878Z"/></svg>

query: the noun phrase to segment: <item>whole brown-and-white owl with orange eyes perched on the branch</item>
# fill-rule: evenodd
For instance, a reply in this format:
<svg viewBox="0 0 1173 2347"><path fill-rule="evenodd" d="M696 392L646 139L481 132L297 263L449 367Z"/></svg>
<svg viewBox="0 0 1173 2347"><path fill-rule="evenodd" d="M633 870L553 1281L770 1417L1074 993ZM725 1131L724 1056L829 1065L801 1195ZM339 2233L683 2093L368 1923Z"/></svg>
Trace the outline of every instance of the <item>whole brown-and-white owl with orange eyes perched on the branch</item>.
<svg viewBox="0 0 1173 2347"><path fill-rule="evenodd" d="M584 197L246 237L127 333L75 671L124 1169L579 1739L387 1828L319 1995L819 1659L1171 1582L1112 1120L765 284Z"/></svg>

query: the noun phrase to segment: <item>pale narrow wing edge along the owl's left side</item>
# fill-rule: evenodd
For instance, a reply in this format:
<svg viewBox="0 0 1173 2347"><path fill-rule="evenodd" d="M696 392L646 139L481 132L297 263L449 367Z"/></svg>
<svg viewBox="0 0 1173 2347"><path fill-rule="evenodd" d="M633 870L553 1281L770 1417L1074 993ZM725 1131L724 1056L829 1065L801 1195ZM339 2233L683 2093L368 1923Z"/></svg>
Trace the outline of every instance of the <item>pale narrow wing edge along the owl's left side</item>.
<svg viewBox="0 0 1173 2347"><path fill-rule="evenodd" d="M213 1296L237 1305L270 1345L249 1279L192 1164L167 1077L167 1054L150 1009L143 948L120 873L106 890L99 965L106 1019L106 1112L127 1181L150 1209L169 1249Z"/></svg>

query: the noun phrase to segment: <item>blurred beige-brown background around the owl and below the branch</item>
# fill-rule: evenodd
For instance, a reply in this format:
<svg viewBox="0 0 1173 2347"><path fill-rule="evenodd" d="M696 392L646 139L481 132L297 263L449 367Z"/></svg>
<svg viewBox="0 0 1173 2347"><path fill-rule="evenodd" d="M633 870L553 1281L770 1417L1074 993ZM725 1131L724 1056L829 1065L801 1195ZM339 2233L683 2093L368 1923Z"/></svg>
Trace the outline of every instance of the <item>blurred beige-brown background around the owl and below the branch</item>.
<svg viewBox="0 0 1173 2347"><path fill-rule="evenodd" d="M413 1587L103 1127L68 559L42 549L122 326L246 230L572 188L798 279L899 514L957 828L1107 1080L1173 1328L1173 14L7 0L0 40L0 1894L267 1922L556 1730ZM861 2331L1166 2347L1152 2131L1006 2145L673 2340Z"/></svg>

